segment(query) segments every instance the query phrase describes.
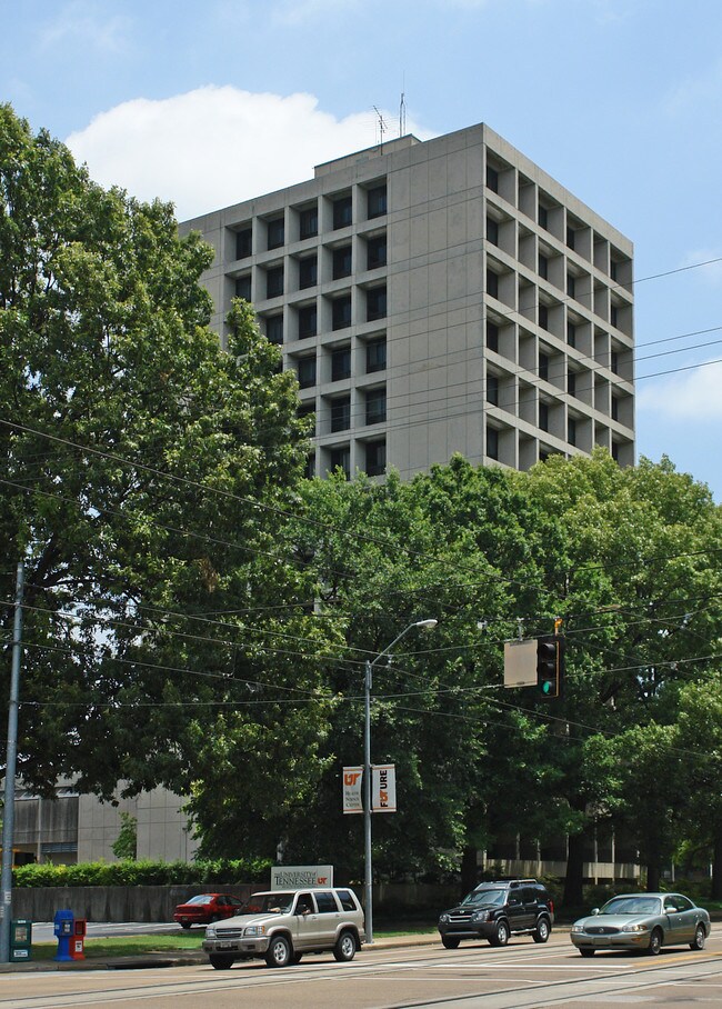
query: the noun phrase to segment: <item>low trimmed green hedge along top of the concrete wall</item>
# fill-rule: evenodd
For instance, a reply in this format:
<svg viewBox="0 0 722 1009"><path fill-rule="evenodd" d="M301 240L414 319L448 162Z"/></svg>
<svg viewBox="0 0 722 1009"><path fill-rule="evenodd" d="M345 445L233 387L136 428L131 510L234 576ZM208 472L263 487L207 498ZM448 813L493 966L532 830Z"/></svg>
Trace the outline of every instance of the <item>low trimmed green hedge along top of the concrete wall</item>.
<svg viewBox="0 0 722 1009"><path fill-rule="evenodd" d="M162 887L200 883L268 882L268 859L213 859L198 862L81 862L76 866L18 866L16 887Z"/></svg>

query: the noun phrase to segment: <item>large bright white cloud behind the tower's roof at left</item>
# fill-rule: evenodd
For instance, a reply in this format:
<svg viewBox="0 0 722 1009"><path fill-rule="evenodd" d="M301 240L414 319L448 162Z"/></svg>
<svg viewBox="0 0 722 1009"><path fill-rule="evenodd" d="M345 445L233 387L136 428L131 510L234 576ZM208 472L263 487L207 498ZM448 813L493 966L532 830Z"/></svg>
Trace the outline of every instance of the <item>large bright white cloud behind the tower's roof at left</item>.
<svg viewBox="0 0 722 1009"><path fill-rule="evenodd" d="M431 136L407 127L420 139ZM339 120L312 94L214 86L123 102L67 139L97 182L170 200L179 220L311 179L315 164L377 142L371 109Z"/></svg>

